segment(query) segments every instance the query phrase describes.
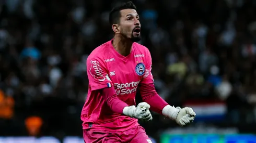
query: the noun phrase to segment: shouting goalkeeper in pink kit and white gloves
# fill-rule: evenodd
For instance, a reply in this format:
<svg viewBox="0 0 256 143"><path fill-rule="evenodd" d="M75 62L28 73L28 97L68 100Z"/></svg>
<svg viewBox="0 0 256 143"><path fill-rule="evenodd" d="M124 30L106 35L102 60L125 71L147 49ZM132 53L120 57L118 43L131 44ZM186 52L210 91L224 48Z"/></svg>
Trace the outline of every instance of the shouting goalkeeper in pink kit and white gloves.
<svg viewBox="0 0 256 143"><path fill-rule="evenodd" d="M110 12L114 38L87 59L88 97L82 110L84 140L92 142L152 142L137 120L150 121L149 108L184 126L192 122L191 108L174 108L157 93L149 50L141 39L141 23L132 2ZM144 102L135 107L140 88Z"/></svg>

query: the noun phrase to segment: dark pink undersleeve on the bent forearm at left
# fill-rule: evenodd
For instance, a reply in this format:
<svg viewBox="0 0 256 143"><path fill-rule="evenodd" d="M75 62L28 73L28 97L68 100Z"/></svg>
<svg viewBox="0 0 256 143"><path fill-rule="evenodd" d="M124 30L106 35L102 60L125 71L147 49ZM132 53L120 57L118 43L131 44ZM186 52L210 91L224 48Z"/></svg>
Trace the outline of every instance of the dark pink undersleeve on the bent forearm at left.
<svg viewBox="0 0 256 143"><path fill-rule="evenodd" d="M118 99L117 93L115 93L113 86L110 88L104 88L102 96L108 103L110 109L116 113L123 114L124 107L128 106L124 101Z"/></svg>

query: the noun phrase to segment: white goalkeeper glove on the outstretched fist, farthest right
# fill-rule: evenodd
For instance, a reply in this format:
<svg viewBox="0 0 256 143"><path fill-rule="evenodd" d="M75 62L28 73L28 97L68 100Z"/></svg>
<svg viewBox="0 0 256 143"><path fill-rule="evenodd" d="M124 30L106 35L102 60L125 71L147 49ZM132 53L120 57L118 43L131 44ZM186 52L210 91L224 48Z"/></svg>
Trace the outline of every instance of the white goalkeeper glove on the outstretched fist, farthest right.
<svg viewBox="0 0 256 143"><path fill-rule="evenodd" d="M188 125L193 122L196 115L192 108L175 108L170 105L162 109L162 114L176 121L180 126Z"/></svg>

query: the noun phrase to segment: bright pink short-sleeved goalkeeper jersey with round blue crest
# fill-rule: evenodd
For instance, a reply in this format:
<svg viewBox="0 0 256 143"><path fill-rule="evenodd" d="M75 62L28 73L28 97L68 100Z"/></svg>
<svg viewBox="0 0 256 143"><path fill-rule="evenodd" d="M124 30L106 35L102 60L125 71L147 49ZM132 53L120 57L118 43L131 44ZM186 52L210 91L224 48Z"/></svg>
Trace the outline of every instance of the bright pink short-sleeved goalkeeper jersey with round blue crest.
<svg viewBox="0 0 256 143"><path fill-rule="evenodd" d="M83 129L126 131L138 125L137 119L113 112L100 92L114 86L118 98L127 105L135 105L139 83L153 83L152 59L149 50L133 43L130 55L120 55L112 40L100 45L87 59L88 96L82 110Z"/></svg>

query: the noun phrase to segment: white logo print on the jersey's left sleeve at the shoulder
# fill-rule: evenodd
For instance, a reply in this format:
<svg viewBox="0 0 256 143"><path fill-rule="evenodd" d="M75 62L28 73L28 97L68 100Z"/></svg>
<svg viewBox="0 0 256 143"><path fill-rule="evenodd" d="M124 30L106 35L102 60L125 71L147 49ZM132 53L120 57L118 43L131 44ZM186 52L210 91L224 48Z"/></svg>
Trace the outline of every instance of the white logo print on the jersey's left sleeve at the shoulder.
<svg viewBox="0 0 256 143"><path fill-rule="evenodd" d="M100 82L103 82L106 80L106 78L102 75L103 71L100 67L100 63L96 60L91 60L91 67L89 70L90 74Z"/></svg>

